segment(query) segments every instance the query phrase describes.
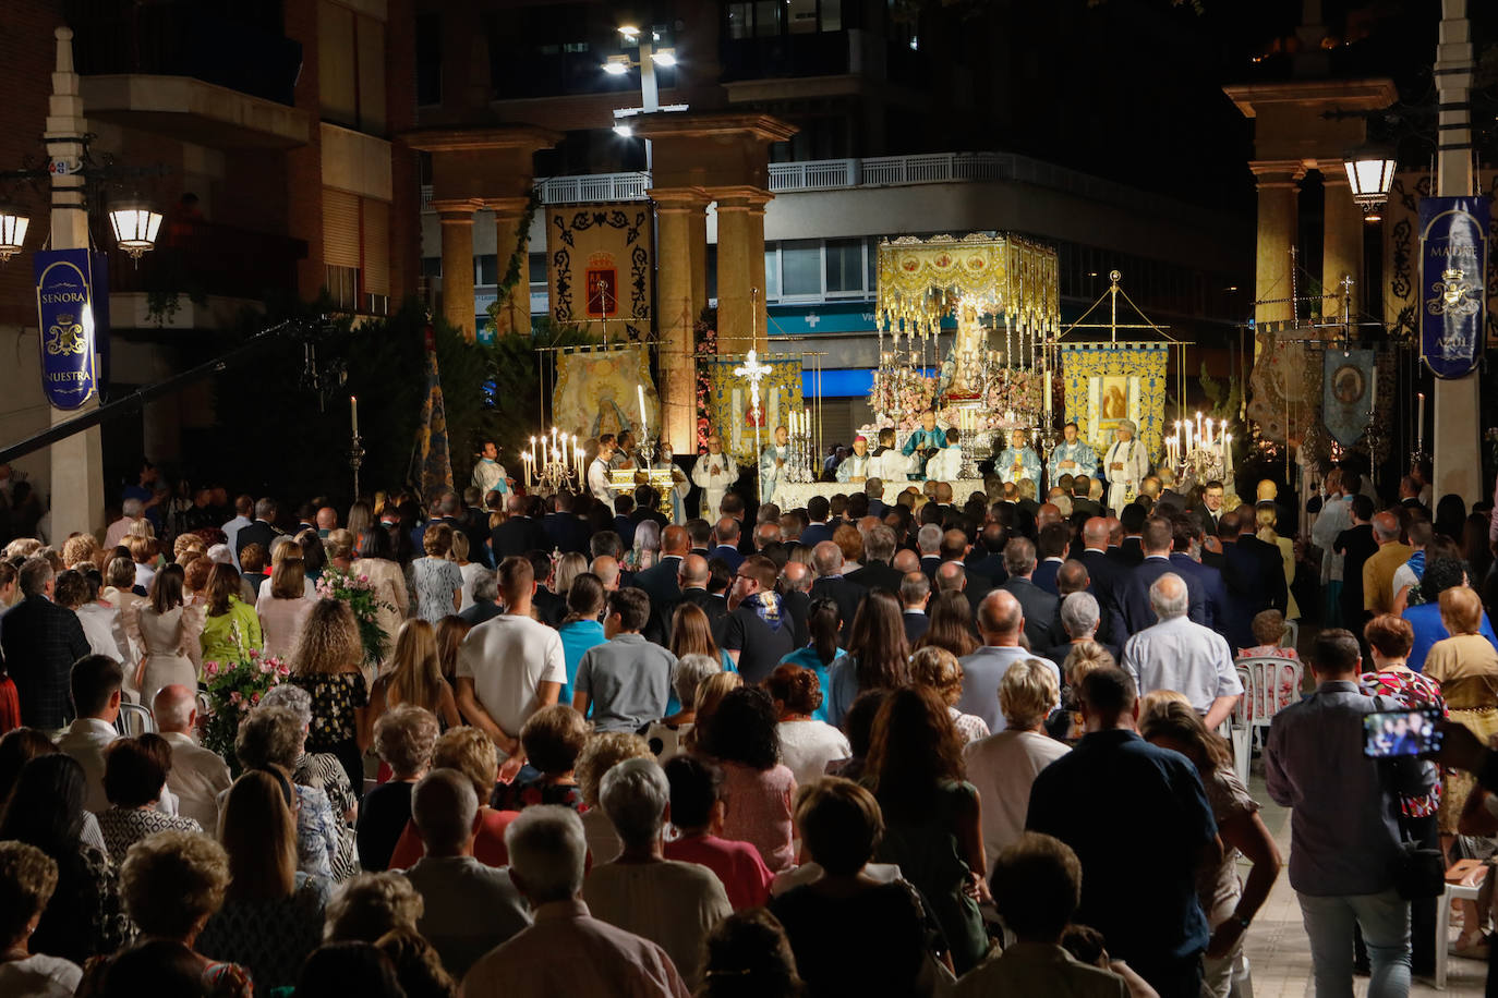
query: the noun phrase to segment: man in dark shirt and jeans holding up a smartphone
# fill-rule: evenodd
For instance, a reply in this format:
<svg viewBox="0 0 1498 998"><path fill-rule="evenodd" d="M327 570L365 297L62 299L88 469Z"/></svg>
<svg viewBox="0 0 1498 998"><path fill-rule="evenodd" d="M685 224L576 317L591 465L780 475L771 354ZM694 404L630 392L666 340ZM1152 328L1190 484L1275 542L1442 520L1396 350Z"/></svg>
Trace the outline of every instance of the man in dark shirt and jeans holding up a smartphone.
<svg viewBox="0 0 1498 998"><path fill-rule="evenodd" d="M1372 962L1371 997L1410 992L1410 902L1395 890L1401 853L1395 793L1420 795L1435 769L1411 757L1363 754L1363 717L1401 709L1359 685L1362 652L1351 631L1324 630L1311 652L1317 690L1275 715L1264 775L1290 823L1290 886L1311 940L1318 995L1353 991L1353 925Z"/></svg>

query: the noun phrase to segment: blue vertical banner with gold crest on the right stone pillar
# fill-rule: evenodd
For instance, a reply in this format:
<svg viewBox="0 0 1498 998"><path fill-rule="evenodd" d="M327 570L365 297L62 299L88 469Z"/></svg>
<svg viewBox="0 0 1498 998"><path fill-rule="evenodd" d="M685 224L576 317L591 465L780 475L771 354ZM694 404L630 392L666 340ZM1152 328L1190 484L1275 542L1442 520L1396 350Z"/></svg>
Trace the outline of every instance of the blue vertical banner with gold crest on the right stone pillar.
<svg viewBox="0 0 1498 998"><path fill-rule="evenodd" d="M1483 346L1488 198L1420 199L1420 358L1435 377L1464 377Z"/></svg>

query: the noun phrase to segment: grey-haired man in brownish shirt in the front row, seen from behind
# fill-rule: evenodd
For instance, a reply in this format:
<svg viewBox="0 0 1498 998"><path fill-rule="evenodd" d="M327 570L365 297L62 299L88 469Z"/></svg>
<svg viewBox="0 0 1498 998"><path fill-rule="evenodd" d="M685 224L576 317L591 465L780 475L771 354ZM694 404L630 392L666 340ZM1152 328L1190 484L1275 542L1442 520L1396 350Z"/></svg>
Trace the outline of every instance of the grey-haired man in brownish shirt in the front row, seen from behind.
<svg viewBox="0 0 1498 998"><path fill-rule="evenodd" d="M665 950L592 917L578 896L587 841L577 811L550 803L526 808L505 830L505 844L509 875L530 901L535 925L473 964L463 977L466 998L688 998ZM587 959L538 959L538 953L587 953Z"/></svg>

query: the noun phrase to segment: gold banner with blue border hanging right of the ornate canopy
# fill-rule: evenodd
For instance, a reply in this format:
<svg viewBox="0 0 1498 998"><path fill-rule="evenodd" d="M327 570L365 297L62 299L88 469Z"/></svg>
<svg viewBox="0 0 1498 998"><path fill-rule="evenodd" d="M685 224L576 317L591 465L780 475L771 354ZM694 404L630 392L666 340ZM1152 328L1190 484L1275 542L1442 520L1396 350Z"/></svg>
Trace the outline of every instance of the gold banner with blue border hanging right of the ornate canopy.
<svg viewBox="0 0 1498 998"><path fill-rule="evenodd" d="M1165 435L1168 343L1062 343L1061 380L1067 422L1098 459L1118 425L1131 419L1152 458Z"/></svg>

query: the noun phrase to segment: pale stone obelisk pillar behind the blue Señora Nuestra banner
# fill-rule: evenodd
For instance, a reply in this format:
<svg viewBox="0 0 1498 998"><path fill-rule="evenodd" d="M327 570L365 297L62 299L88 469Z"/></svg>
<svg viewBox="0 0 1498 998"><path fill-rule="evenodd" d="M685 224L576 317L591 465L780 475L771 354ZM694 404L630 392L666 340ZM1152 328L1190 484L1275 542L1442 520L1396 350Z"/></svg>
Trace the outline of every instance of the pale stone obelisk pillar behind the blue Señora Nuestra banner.
<svg viewBox="0 0 1498 998"><path fill-rule="evenodd" d="M46 105L46 159L51 163L76 163L82 159L88 123L73 72L73 31L60 27L57 37L57 72L52 73L52 96ZM49 239L54 250L88 247L88 205L84 199L81 174L52 175L52 215ZM102 289L100 289L102 290ZM37 335L42 331L37 329ZM81 408L51 410L52 425L67 422L99 407L99 398ZM91 426L52 444L52 542L61 543L73 531L99 534L103 530L103 444L99 428ZM99 534L102 536L102 534Z"/></svg>

